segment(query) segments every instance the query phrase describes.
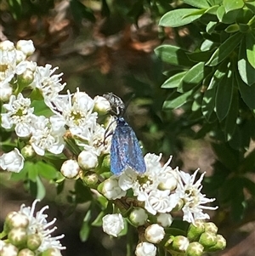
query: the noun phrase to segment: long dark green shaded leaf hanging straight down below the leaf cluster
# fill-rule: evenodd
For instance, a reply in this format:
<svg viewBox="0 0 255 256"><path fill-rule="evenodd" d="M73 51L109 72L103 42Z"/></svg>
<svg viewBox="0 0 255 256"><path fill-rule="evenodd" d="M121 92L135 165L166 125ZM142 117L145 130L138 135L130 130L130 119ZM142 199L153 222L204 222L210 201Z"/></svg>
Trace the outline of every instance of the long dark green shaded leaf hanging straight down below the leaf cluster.
<svg viewBox="0 0 255 256"><path fill-rule="evenodd" d="M219 121L222 121L229 113L233 95L233 71L229 69L227 76L222 77L217 86L216 92L216 114Z"/></svg>

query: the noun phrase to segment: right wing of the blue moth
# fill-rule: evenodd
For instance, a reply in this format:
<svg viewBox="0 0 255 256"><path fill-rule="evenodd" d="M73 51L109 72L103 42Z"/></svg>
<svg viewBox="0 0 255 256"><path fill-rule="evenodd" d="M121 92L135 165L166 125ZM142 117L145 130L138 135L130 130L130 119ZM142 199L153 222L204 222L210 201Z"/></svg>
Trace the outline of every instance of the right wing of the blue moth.
<svg viewBox="0 0 255 256"><path fill-rule="evenodd" d="M139 174L144 174L146 166L143 152L139 145L139 140L133 132L133 128L127 127L127 165Z"/></svg>

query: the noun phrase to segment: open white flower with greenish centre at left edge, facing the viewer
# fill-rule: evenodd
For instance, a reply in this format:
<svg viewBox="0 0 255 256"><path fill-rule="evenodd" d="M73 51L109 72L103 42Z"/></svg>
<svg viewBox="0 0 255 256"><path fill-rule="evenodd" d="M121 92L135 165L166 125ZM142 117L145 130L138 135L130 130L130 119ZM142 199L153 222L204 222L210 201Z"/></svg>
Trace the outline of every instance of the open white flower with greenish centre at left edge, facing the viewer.
<svg viewBox="0 0 255 256"><path fill-rule="evenodd" d="M8 104L3 104L6 113L2 113L2 127L12 128L15 125L15 132L19 137L27 137L31 134L31 122L34 117L31 108L31 100L18 94L18 97L11 95Z"/></svg>

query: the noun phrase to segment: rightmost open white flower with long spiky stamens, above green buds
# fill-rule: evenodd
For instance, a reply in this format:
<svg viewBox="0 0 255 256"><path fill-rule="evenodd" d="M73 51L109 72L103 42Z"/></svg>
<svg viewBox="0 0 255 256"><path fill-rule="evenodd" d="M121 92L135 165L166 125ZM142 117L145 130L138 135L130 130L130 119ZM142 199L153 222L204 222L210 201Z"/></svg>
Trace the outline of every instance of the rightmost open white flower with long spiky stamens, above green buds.
<svg viewBox="0 0 255 256"><path fill-rule="evenodd" d="M207 213L203 213L203 209L215 210L218 207L206 207L203 204L207 202L213 202L215 198L209 199L206 195L201 194L201 180L204 174L201 174L200 179L195 182L195 175L199 169L195 171L194 174L185 174L182 171L178 171L179 182L176 193L178 197L184 202L184 207L182 211L184 212L184 220L195 225L196 219L210 219Z"/></svg>

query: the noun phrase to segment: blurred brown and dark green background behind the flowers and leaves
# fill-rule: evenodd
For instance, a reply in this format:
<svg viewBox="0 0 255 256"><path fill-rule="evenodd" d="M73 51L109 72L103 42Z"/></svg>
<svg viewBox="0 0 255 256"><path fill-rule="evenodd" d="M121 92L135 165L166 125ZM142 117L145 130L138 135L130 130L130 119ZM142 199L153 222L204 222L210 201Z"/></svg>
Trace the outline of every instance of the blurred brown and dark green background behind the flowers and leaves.
<svg viewBox="0 0 255 256"><path fill-rule="evenodd" d="M113 92L129 102L125 118L143 142L144 153L162 153L163 162L173 155L172 168L206 171L204 192L207 197L218 198L222 188L214 190L212 181L217 182L217 177L210 179L218 158L210 138L194 138L199 123L187 121L185 108L162 111L166 89L161 84L167 78L164 74L174 68L163 64L154 49L162 43L193 48L196 38L192 27L157 26L161 16L173 9L169 3L181 6L181 1L164 0L2 0L0 40L16 43L31 39L36 48L32 60L38 65L59 66L58 72L64 73L63 82L71 92L78 87L92 98ZM252 148L251 143L250 151ZM0 173L1 225L8 212L33 200L26 185L8 178L8 174ZM250 178L254 180L254 173ZM126 238L111 239L101 227L94 227L88 240L81 241L79 232L88 206L81 203L74 208L65 199L68 189L73 188L72 181L61 196L54 185L45 185L47 194L39 204L50 206L49 220L54 218L51 216L58 219L57 233L65 234L61 242L67 247L63 255L125 255ZM228 243L224 252L210 255L254 255L255 203L246 191L244 196L248 206L239 219L231 217L235 208L216 202L219 209L212 221Z"/></svg>

